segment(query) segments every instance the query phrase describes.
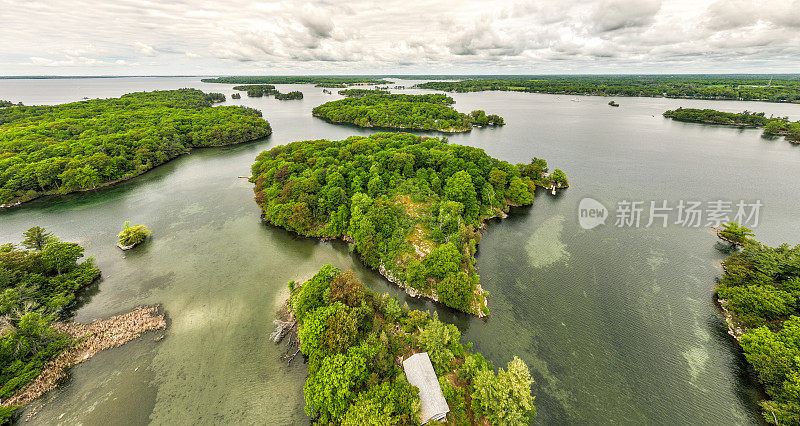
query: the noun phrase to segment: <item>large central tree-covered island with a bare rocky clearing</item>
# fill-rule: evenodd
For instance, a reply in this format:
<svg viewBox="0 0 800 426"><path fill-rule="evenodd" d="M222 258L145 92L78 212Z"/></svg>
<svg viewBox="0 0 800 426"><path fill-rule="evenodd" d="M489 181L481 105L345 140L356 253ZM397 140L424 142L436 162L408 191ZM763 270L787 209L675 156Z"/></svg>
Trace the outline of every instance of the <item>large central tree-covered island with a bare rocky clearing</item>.
<svg viewBox="0 0 800 426"><path fill-rule="evenodd" d="M439 138L378 133L277 146L250 179L269 223L341 238L409 294L485 316L479 229L532 204L537 186L567 186L562 171L546 171L542 159L515 166Z"/></svg>

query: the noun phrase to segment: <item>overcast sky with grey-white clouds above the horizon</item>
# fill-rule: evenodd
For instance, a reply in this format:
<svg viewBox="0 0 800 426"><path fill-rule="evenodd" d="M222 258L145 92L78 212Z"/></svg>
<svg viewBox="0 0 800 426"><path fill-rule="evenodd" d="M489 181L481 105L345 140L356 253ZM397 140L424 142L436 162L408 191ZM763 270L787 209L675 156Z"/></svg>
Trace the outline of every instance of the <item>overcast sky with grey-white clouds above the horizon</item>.
<svg viewBox="0 0 800 426"><path fill-rule="evenodd" d="M0 75L800 72L800 0L0 0Z"/></svg>

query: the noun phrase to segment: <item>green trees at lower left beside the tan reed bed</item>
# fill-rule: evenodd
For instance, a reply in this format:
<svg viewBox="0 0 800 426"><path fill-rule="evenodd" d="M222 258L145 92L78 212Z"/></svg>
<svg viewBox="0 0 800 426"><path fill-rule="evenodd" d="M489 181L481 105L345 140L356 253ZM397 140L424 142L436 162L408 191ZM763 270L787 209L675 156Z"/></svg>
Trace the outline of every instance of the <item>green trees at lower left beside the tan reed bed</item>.
<svg viewBox="0 0 800 426"><path fill-rule="evenodd" d="M100 276L83 247L40 227L23 235L22 247L0 245L0 399L32 381L44 365L72 345L52 322L78 290ZM13 409L0 409L0 422Z"/></svg>

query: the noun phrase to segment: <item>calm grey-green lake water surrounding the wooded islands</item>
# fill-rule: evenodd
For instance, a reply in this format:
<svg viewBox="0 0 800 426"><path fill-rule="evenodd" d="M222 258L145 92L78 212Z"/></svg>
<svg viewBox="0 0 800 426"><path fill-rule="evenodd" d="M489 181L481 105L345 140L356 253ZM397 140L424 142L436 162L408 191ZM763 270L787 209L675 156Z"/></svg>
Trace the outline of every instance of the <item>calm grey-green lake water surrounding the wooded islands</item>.
<svg viewBox="0 0 800 426"><path fill-rule="evenodd" d="M410 86L414 82L400 81ZM77 241L103 272L82 297L78 321L161 303L170 328L102 352L73 368L64 386L30 404L30 424L289 424L303 413L305 366L279 360L268 335L286 283L321 265L354 269L367 285L436 309L496 366L514 355L531 368L538 424L757 424L762 398L714 300L724 258L708 227L615 227L617 202L761 200L756 237L800 243L796 212L800 146L755 129L673 122L678 106L765 111L800 118L800 105L527 93L454 94L456 109L485 109L506 126L449 136L510 162L534 156L561 168L571 188L537 193L531 208L493 221L478 252L487 320L408 298L364 268L342 243L321 243L265 225L249 175L262 150L295 140L371 131L311 116L327 100L311 85L302 101L230 100L232 85L199 78L0 80L0 99L54 104L138 90L194 87L226 104L258 108L269 138L203 149L113 188L49 198L0 212L0 241L40 225ZM407 93L422 91L406 90ZM573 99L575 101L573 101ZM584 197L610 211L584 230ZM646 223L646 217L642 225ZM121 252L122 222L153 238Z"/></svg>

